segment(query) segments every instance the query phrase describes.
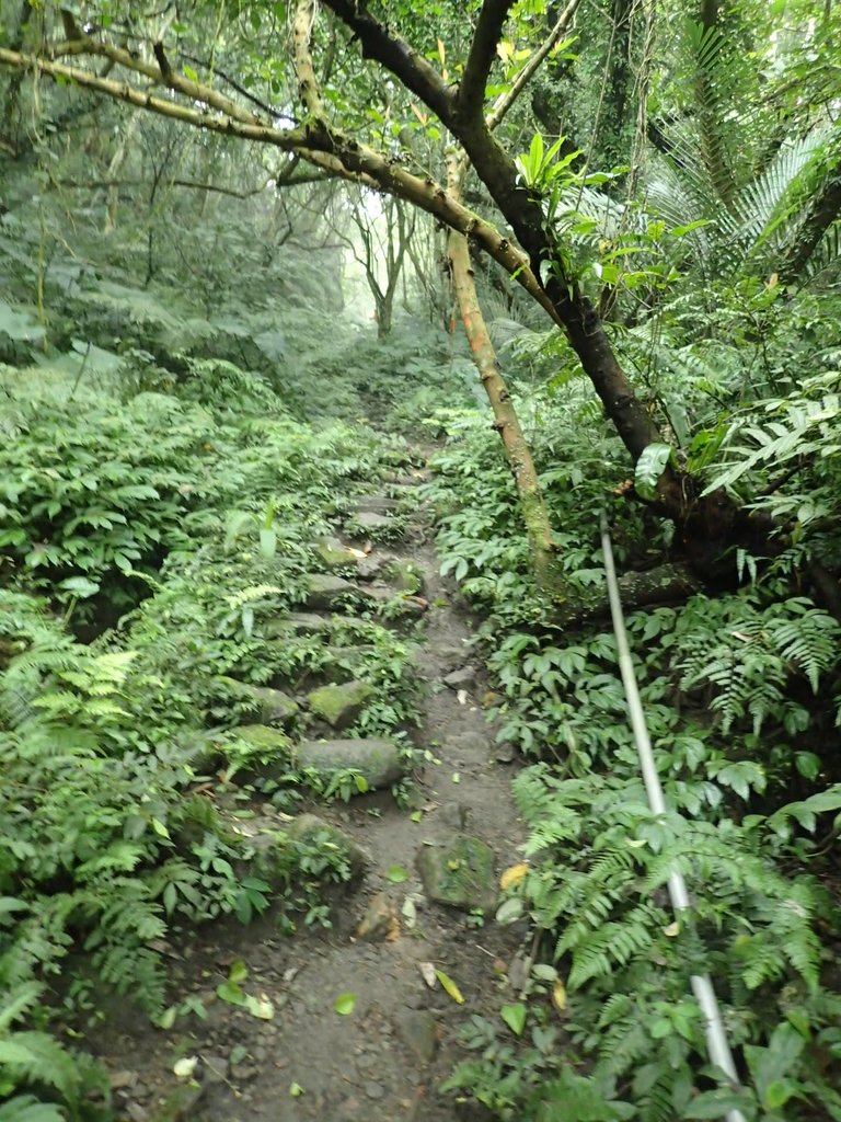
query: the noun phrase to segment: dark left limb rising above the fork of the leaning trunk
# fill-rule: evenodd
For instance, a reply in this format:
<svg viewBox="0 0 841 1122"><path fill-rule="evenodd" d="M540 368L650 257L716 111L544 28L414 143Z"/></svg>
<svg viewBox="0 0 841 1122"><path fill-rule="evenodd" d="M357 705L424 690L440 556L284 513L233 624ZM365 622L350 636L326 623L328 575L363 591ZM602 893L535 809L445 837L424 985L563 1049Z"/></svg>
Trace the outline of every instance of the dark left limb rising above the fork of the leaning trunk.
<svg viewBox="0 0 841 1122"><path fill-rule="evenodd" d="M454 91L423 55L375 19L364 0L322 0L322 3L357 35L363 58L381 63L437 113L444 125L449 123L455 107Z"/></svg>

